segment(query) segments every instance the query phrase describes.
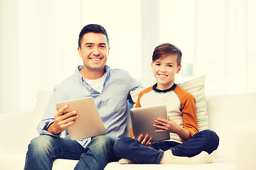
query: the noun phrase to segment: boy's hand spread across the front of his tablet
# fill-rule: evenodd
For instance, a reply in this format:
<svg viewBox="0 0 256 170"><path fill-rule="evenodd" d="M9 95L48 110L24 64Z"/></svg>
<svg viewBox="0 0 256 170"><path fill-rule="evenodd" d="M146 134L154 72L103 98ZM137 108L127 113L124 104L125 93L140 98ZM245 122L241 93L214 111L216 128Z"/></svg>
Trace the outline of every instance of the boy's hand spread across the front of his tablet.
<svg viewBox="0 0 256 170"><path fill-rule="evenodd" d="M178 130L181 130L181 126L178 125L174 120L166 120L164 118L156 118L154 120L155 128L157 128L156 132L174 132L177 133Z"/></svg>

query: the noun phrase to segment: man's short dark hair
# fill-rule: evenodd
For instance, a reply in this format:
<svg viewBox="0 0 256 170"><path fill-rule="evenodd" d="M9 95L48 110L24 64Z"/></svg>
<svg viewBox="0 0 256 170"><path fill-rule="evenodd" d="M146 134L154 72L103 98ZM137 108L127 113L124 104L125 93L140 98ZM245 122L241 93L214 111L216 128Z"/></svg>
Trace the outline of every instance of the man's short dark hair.
<svg viewBox="0 0 256 170"><path fill-rule="evenodd" d="M79 34L79 39L78 39L78 46L81 47L81 40L82 36L85 35L86 33L102 33L106 35L107 38L107 45L110 47L110 40L108 39L107 36L107 30L105 30L104 27L98 25L98 24L89 24L82 28L80 34Z"/></svg>

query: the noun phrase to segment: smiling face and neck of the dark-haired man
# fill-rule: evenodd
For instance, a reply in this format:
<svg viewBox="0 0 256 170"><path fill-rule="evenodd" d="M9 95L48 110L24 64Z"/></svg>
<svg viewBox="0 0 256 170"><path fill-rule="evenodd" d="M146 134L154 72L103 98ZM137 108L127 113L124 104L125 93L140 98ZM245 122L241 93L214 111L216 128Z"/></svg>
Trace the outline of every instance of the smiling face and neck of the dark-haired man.
<svg viewBox="0 0 256 170"><path fill-rule="evenodd" d="M83 62L85 72L104 72L110 47L106 35L102 33L86 33L82 36L78 52Z"/></svg>

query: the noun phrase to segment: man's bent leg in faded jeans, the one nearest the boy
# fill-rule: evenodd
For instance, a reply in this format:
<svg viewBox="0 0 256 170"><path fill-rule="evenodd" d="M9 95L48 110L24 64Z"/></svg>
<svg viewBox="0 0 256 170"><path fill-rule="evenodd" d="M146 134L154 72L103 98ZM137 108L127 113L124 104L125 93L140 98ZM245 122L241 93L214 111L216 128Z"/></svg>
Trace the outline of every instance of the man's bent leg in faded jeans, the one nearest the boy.
<svg viewBox="0 0 256 170"><path fill-rule="evenodd" d="M107 135L92 137L92 141L85 147L85 152L81 155L75 169L104 169L110 160L114 160L114 142L115 140Z"/></svg>

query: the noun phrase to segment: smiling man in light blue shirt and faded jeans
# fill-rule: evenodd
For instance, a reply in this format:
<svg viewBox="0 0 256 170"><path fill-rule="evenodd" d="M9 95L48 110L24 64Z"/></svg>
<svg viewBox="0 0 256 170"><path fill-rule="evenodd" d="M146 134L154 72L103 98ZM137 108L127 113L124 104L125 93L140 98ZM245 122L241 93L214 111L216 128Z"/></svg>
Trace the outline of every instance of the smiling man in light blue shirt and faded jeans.
<svg viewBox="0 0 256 170"><path fill-rule="evenodd" d="M122 69L106 65L110 43L105 28L90 24L82 28L78 53L83 65L75 73L55 86L48 108L38 125L40 136L28 146L25 169L52 169L55 159L78 159L75 169L104 169L114 160L113 145L125 136L126 110L129 91L139 83ZM107 130L107 135L70 140L68 133L60 137L78 118L76 111L63 115L56 103L92 96Z"/></svg>

